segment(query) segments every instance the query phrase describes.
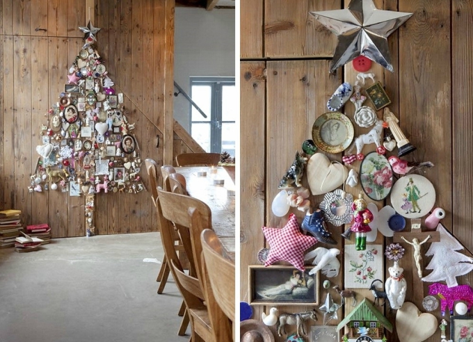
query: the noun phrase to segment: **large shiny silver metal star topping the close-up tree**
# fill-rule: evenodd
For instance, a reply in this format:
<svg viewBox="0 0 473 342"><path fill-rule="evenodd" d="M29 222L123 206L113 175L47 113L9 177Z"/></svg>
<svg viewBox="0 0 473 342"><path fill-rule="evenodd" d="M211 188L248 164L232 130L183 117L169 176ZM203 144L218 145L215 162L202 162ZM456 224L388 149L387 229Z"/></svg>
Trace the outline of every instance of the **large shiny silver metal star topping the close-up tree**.
<svg viewBox="0 0 473 342"><path fill-rule="evenodd" d="M330 72L360 55L393 72L387 37L412 15L378 10L373 0L351 0L347 9L310 14L337 35L338 44L330 63Z"/></svg>

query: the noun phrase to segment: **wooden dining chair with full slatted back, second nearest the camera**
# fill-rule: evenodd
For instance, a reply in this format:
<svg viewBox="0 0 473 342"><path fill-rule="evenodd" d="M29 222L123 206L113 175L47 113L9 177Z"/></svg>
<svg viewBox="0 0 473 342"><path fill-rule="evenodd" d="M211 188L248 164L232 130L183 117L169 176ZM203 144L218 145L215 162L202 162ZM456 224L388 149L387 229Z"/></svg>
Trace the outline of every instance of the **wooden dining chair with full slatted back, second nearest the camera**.
<svg viewBox="0 0 473 342"><path fill-rule="evenodd" d="M193 235L200 235L201 231L195 233L192 222L198 220L200 227L210 227L211 225L209 206L186 195L168 193L163 190L158 190L158 193L157 211L159 224L161 225L163 247L168 262L170 262L175 282L182 293L184 302L186 302L186 309L191 321L191 341L198 341L197 336L203 341L230 341L229 339L214 339L214 327L211 325L207 309L213 300L205 294L200 275L202 270L202 244L200 241L193 241ZM182 269L174 248L173 223L179 231L184 249L189 257L189 263L191 264L189 274L186 274Z"/></svg>

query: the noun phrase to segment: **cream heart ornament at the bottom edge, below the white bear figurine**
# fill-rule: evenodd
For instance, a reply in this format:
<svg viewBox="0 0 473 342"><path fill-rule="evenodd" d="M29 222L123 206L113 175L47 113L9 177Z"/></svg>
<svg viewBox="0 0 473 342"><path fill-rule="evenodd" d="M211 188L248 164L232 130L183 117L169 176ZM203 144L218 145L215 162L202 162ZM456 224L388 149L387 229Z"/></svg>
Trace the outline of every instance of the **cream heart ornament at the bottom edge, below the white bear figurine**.
<svg viewBox="0 0 473 342"><path fill-rule="evenodd" d="M437 331L437 318L421 314L415 304L404 302L396 313L396 331L400 342L425 341Z"/></svg>

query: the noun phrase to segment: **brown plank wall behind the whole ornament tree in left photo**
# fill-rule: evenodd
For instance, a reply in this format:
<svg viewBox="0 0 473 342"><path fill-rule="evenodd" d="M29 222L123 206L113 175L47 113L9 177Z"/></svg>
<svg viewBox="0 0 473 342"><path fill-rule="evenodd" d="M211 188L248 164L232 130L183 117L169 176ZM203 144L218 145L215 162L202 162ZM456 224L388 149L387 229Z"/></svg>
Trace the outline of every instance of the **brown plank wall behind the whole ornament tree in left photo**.
<svg viewBox="0 0 473 342"><path fill-rule="evenodd" d="M163 136L163 115L173 122L175 1L88 3L95 7L86 8L82 0L0 3L0 209L21 209L25 224L48 222L54 237L85 235L83 197L52 190L30 194L28 186L39 156L35 147L41 143L40 125L47 122L48 109L64 90L69 67L83 45L78 27L86 26L90 13L93 25L101 28L97 51L115 90L125 97L129 121L136 124L132 133L142 161L154 158L163 165L166 158L167 163L173 159L172 124L171 133ZM144 166L141 176L148 188ZM97 194L95 233L156 230L149 199L145 191Z"/></svg>

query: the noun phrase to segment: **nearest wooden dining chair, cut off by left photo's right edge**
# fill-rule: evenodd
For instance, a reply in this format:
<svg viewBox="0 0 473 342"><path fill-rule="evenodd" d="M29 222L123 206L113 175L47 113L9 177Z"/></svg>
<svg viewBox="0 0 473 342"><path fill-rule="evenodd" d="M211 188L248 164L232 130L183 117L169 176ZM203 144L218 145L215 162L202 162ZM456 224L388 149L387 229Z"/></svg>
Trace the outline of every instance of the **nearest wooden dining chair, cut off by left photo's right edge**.
<svg viewBox="0 0 473 342"><path fill-rule="evenodd" d="M235 327L235 287L233 286L235 284L235 263L225 254L225 248L215 231L204 229L200 234L200 240L202 243L202 279L205 282L206 292L213 293L218 307ZM225 332L225 329L232 331L227 323L220 322L221 332ZM234 340L234 330L232 337Z"/></svg>

